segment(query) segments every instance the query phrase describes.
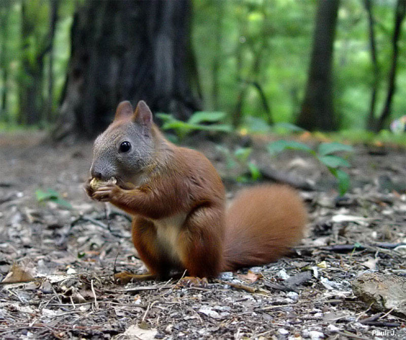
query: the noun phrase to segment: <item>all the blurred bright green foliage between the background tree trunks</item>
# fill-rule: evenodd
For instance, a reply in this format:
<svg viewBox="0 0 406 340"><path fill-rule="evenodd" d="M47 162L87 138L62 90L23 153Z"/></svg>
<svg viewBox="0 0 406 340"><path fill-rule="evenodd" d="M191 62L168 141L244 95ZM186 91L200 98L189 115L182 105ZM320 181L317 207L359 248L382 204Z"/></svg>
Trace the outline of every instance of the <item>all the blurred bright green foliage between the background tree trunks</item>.
<svg viewBox="0 0 406 340"><path fill-rule="evenodd" d="M54 110L60 103L66 79L73 15L77 4L85 1L57 3L51 98ZM252 133L299 131L285 122L294 122L300 111L308 76L317 2L192 0L192 3L191 44L204 108L226 113L221 119L225 121L232 121L240 115L235 120ZM338 13L332 80L334 109L341 129L365 127L371 87L376 78L377 114L386 99L396 2L371 3L378 74L371 63L368 20L363 3L343 0ZM4 91L7 94L5 107L0 108L0 120L6 124L20 123L21 88L31 82L31 71L40 66L37 60L48 43L51 4L50 0L0 0L0 93ZM26 37L22 35L23 19L30 26ZM406 107L404 22L402 29L391 119L403 115ZM30 72L24 69L25 61L30 66ZM49 52L46 52L43 61L42 99L48 99ZM254 82L260 85L269 110L264 108L258 89L252 86ZM3 106L3 103L0 105ZM236 110L237 107L241 109ZM268 124L270 118L276 122L272 127ZM193 121L188 123L199 126L171 124L181 135L209 126Z"/></svg>

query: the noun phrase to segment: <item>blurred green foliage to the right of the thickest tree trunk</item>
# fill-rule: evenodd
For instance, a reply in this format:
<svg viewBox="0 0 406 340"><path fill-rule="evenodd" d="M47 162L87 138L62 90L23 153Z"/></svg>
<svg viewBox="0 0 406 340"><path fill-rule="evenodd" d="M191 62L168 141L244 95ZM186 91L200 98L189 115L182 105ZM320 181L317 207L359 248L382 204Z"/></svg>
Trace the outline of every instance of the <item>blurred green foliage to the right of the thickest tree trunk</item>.
<svg viewBox="0 0 406 340"><path fill-rule="evenodd" d="M395 1L371 4L380 67L379 113L386 99ZM241 121L248 131L269 131L260 121L251 120L267 121L258 91L252 86L243 91L241 80L255 80L263 89L274 121L293 122L306 88L317 2L194 0L193 5L192 44L205 107L234 115L242 94ZM368 45L363 1L340 2L332 74L340 128L365 127L375 77ZM406 44L399 41L398 45L393 119L404 114L406 107Z"/></svg>

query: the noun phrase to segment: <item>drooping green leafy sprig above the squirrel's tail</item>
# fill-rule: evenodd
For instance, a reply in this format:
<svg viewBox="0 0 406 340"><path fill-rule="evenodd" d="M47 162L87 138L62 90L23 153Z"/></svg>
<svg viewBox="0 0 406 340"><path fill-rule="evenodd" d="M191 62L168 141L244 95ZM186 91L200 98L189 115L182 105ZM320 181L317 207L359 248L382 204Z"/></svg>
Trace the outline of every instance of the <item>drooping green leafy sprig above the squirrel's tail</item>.
<svg viewBox="0 0 406 340"><path fill-rule="evenodd" d="M343 196L350 187L350 178L348 174L341 169L342 167L349 167L350 163L340 156L333 155L333 153L340 151L354 151L350 145L336 142L321 143L319 144L317 151L314 151L306 144L300 142L280 140L268 144L267 149L272 155L282 152L283 150L299 150L307 152L317 158L322 164L327 166L328 171L337 179L341 196Z"/></svg>

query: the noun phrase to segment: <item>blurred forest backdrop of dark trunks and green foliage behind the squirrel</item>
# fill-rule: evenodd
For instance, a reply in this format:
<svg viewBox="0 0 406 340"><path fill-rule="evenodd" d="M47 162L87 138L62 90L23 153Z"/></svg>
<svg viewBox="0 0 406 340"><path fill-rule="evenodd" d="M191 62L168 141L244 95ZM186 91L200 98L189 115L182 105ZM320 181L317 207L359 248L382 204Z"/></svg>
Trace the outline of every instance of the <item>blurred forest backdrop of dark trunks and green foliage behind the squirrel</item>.
<svg viewBox="0 0 406 340"><path fill-rule="evenodd" d="M93 138L124 99L243 131L378 132L406 112L404 0L0 6L3 131Z"/></svg>

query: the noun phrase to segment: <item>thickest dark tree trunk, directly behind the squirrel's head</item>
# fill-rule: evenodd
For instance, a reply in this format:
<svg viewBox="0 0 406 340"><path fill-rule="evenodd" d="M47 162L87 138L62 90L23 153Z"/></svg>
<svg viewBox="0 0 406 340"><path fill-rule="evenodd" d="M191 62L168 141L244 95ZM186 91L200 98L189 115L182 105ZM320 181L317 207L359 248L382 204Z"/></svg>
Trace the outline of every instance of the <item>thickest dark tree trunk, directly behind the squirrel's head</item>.
<svg viewBox="0 0 406 340"><path fill-rule="evenodd" d="M199 109L191 89L189 1L90 1L72 26L72 54L53 136L92 138L120 100L185 119ZM196 77L196 75L193 75Z"/></svg>

